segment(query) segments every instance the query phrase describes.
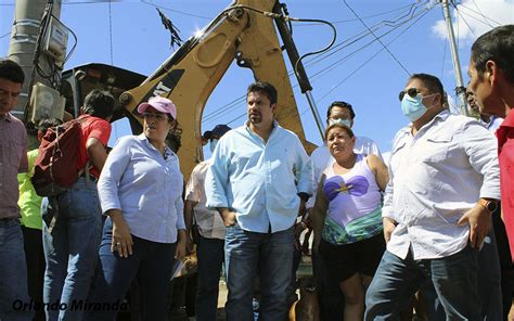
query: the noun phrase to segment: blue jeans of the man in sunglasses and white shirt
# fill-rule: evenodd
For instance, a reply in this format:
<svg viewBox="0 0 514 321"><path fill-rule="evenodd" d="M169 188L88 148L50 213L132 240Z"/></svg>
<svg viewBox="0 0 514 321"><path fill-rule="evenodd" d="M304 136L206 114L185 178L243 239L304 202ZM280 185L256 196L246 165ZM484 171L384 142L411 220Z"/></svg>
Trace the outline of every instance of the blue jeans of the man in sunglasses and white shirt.
<svg viewBox="0 0 514 321"><path fill-rule="evenodd" d="M365 296L365 320L399 320L411 296L434 284L447 320L480 320L476 288L477 251L467 245L440 259L401 259L386 251Z"/></svg>

